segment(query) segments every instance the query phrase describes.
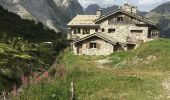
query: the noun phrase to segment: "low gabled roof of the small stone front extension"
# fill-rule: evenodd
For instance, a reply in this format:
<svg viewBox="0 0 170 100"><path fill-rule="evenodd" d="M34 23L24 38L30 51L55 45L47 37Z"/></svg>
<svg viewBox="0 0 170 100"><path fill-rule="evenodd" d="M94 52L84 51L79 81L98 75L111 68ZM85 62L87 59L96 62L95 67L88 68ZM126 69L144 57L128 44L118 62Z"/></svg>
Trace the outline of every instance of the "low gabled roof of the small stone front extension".
<svg viewBox="0 0 170 100"><path fill-rule="evenodd" d="M107 41L107 42L109 42L113 45L115 45L118 42L118 40L114 37L110 37L107 34L97 32L97 33L94 33L94 34L90 34L86 37L83 37L81 39L75 40L72 43L78 43L78 42L84 41L84 40L89 39L89 38L94 37L94 36L99 37L99 38L101 38L101 39L103 39L103 40L105 40L105 41Z"/></svg>

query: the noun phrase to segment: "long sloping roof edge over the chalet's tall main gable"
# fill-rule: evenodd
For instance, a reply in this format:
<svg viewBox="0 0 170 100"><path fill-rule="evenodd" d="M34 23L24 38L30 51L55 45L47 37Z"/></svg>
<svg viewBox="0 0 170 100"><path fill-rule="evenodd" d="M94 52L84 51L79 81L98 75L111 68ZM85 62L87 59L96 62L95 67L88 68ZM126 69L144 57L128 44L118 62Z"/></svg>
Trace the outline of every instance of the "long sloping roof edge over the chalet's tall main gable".
<svg viewBox="0 0 170 100"><path fill-rule="evenodd" d="M108 17L110 17L110 16L112 16L112 15L118 13L118 12L124 13L124 14L129 15L129 16L131 16L131 17L134 17L134 18L136 18L136 19L138 19L138 20L141 20L141 21L143 21L143 22L145 22L145 23L148 23L148 24L150 24L150 25L156 26L156 23L154 23L154 22L152 22L152 21L150 21L150 20L148 20L148 19L146 19L146 18L144 18L144 17L141 17L141 16L139 16L139 15L137 15L137 14L134 14L134 13L126 12L126 11L121 10L121 9L118 9L118 10L116 10L116 11L113 11L113 12L111 12L111 13L108 13L108 14L106 14L106 15L103 15L103 16L101 16L100 18L96 19L94 22L97 23L97 22L99 22L99 21L101 21L101 20L104 20L104 19L106 19L106 18L108 18Z"/></svg>

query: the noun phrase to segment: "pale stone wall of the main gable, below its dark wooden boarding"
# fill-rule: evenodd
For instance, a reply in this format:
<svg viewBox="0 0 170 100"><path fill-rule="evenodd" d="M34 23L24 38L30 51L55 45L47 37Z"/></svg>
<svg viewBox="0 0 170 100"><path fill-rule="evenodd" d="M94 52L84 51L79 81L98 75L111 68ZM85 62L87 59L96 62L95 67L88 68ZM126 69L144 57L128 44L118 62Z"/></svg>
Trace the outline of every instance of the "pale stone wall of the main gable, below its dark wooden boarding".
<svg viewBox="0 0 170 100"><path fill-rule="evenodd" d="M109 20L105 20L99 23L100 28L104 29L103 33L108 34L112 37L116 37L119 42L126 43L127 38L130 37L133 40L143 40L148 41L148 26L137 26L136 24L128 24L128 23L116 23L116 24L108 24ZM115 32L108 33L108 29L115 29ZM131 30L142 30L140 34L133 34Z"/></svg>

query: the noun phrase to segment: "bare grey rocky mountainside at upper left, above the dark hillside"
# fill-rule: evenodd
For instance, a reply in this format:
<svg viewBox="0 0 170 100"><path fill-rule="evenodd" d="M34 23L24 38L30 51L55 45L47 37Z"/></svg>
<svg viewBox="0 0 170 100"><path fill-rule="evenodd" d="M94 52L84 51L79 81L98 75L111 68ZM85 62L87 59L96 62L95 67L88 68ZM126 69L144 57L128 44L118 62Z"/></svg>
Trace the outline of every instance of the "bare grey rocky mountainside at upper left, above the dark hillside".
<svg viewBox="0 0 170 100"><path fill-rule="evenodd" d="M83 9L77 0L0 0L0 5L24 19L34 19L56 32L66 29L66 23Z"/></svg>

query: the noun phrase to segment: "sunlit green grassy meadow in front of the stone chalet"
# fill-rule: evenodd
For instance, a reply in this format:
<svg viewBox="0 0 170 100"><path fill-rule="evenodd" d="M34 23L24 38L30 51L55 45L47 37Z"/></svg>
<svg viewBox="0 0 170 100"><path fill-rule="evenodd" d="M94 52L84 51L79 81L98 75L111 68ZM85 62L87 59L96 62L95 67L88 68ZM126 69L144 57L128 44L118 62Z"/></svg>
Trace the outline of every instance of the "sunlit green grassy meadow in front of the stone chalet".
<svg viewBox="0 0 170 100"><path fill-rule="evenodd" d="M107 58L109 63L98 62ZM66 77L43 83L43 92L39 92L42 84L27 88L21 99L29 95L30 100L64 100L69 97L70 82L74 81L78 100L168 100L168 90L162 83L170 78L169 61L168 39L154 40L136 50L110 56L65 53L60 63L67 70Z"/></svg>

